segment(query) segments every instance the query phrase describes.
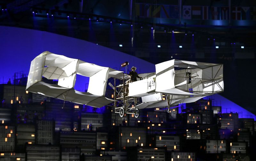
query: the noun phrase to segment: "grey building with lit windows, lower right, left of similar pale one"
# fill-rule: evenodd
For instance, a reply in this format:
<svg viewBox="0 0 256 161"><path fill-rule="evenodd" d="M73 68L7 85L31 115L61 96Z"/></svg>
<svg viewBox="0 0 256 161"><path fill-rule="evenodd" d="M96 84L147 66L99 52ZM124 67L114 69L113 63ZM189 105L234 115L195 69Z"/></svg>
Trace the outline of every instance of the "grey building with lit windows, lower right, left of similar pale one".
<svg viewBox="0 0 256 161"><path fill-rule="evenodd" d="M226 140L207 140L206 152L207 153L226 153L227 145Z"/></svg>

